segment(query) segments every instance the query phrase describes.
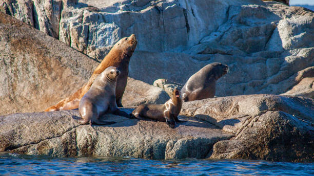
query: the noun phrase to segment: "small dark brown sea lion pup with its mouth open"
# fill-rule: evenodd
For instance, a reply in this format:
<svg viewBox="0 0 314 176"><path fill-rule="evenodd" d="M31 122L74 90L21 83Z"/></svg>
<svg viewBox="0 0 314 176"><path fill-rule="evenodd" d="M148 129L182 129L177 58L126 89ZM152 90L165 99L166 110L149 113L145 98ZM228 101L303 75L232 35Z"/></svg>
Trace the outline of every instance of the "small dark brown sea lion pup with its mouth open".
<svg viewBox="0 0 314 176"><path fill-rule="evenodd" d="M174 128L175 122L185 122L178 119L182 108L182 99L180 91L174 89L172 97L165 104L140 104L130 114L136 119L148 118L161 122L167 122L171 128Z"/></svg>

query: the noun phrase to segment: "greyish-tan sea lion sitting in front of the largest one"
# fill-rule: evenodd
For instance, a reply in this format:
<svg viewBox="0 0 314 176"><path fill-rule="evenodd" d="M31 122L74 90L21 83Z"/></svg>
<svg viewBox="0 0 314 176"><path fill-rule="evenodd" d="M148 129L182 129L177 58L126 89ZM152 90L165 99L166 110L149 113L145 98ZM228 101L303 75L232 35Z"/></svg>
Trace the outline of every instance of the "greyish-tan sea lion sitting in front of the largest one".
<svg viewBox="0 0 314 176"><path fill-rule="evenodd" d="M81 124L112 124L115 122L102 122L99 118L105 113L130 117L129 114L117 108L115 101L115 86L120 71L115 67L108 67L96 77L89 91L83 96L78 105L82 119Z"/></svg>

